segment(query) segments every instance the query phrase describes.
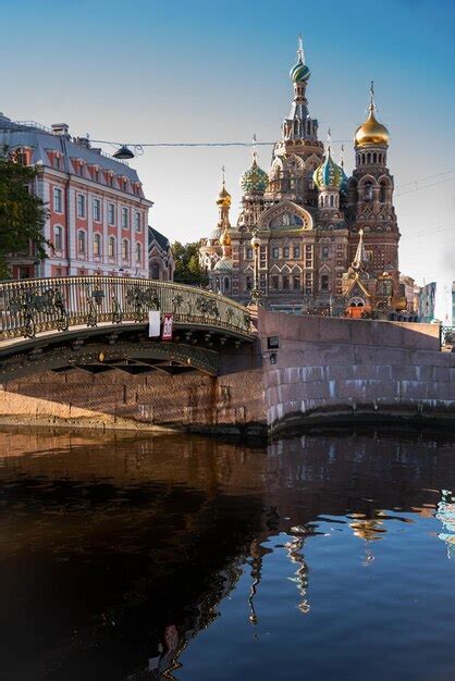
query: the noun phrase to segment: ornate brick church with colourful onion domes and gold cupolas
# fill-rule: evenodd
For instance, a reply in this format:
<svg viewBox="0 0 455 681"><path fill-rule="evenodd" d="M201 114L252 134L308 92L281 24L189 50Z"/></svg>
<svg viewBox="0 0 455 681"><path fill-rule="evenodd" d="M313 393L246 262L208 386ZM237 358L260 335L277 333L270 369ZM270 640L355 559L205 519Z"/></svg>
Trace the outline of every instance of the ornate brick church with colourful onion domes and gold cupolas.
<svg viewBox="0 0 455 681"><path fill-rule="evenodd" d="M373 92L355 134L356 169L348 178L318 139L306 99L310 72L302 42L291 70L294 99L274 145L269 173L251 166L241 178L242 209L230 224L223 187L217 227L200 243L210 287L248 301L255 285L251 236L259 244L258 287L269 308L333 314L390 312L402 307L398 239L386 166L389 133L377 121Z"/></svg>

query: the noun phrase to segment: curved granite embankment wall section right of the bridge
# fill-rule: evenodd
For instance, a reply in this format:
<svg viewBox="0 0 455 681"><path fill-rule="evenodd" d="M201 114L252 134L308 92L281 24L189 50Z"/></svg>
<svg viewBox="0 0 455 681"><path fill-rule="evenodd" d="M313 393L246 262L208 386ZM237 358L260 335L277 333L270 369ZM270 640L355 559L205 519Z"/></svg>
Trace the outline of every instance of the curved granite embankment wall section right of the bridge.
<svg viewBox="0 0 455 681"><path fill-rule="evenodd" d="M440 351L438 324L259 313L272 430L356 418L438 418L455 430L455 354Z"/></svg>

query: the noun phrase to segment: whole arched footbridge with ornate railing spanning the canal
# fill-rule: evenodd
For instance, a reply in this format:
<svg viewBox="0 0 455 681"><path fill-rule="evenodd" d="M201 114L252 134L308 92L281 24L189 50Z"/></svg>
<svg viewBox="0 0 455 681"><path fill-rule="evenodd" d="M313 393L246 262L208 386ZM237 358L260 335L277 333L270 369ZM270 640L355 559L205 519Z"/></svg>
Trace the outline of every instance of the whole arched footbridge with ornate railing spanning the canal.
<svg viewBox="0 0 455 681"><path fill-rule="evenodd" d="M216 374L219 350L255 337L248 310L193 286L116 276L0 284L0 376L74 367ZM173 342L148 339L148 313L173 314Z"/></svg>

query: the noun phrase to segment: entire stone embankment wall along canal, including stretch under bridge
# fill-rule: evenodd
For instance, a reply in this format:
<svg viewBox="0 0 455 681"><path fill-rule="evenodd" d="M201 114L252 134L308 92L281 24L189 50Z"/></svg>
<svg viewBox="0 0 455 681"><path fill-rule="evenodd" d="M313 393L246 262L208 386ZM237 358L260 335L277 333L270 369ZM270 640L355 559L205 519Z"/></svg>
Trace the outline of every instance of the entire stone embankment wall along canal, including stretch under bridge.
<svg viewBox="0 0 455 681"><path fill-rule="evenodd" d="M0 386L0 423L219 433L308 423L439 419L455 431L455 352L435 324L259 311L255 345L223 349L220 375L47 372ZM278 336L276 363L267 338Z"/></svg>

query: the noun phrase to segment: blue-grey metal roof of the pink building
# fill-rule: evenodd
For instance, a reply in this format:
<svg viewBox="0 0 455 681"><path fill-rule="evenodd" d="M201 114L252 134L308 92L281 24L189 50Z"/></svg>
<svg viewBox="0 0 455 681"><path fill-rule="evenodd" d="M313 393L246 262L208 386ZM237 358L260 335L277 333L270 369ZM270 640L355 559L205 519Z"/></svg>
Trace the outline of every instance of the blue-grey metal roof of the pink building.
<svg viewBox="0 0 455 681"><path fill-rule="evenodd" d="M88 143L88 140L86 140ZM88 143L89 144L89 143ZM28 147L33 149L32 163L51 166L48 151L60 151L63 154L62 170L74 173L70 165L71 159L82 159L86 163L99 165L102 170L111 170L116 175L124 175L132 182L139 182L137 172L124 161L119 161L94 147L77 144L70 135L58 135L49 128L33 121L14 122L0 113L0 147L7 145L15 149Z"/></svg>

